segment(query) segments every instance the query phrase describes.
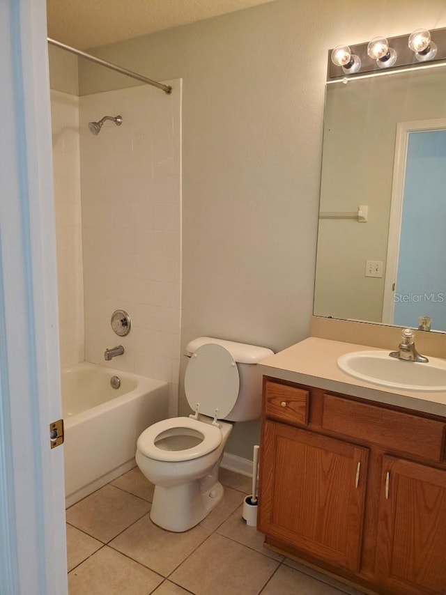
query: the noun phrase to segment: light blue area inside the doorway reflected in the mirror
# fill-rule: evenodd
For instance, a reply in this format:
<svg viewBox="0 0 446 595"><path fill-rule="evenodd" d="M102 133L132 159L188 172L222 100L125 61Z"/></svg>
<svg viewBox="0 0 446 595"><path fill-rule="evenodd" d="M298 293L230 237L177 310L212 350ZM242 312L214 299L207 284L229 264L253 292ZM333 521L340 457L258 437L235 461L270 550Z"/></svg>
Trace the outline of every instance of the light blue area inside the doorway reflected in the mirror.
<svg viewBox="0 0 446 595"><path fill-rule="evenodd" d="M446 130L410 132L394 324L446 330Z"/></svg>

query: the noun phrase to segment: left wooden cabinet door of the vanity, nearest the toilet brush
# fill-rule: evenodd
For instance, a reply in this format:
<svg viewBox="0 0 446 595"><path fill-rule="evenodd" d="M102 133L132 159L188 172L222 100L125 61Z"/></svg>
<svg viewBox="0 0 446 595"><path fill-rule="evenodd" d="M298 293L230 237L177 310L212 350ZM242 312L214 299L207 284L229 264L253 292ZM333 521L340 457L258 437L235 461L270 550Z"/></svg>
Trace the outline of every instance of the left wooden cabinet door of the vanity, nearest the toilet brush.
<svg viewBox="0 0 446 595"><path fill-rule="evenodd" d="M261 448L259 530L357 571L368 450L275 422Z"/></svg>

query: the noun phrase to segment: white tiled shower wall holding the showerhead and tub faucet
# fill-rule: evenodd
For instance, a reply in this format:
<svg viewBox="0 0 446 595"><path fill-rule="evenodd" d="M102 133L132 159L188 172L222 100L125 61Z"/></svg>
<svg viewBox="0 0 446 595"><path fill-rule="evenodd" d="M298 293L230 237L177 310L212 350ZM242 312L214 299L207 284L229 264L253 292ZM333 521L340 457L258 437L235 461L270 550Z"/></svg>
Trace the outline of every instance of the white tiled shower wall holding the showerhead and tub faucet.
<svg viewBox="0 0 446 595"><path fill-rule="evenodd" d="M181 82L80 98L85 359L165 380L176 414L180 363ZM107 121L98 136L89 121ZM110 327L116 309L132 330ZM124 355L105 362L105 348Z"/></svg>

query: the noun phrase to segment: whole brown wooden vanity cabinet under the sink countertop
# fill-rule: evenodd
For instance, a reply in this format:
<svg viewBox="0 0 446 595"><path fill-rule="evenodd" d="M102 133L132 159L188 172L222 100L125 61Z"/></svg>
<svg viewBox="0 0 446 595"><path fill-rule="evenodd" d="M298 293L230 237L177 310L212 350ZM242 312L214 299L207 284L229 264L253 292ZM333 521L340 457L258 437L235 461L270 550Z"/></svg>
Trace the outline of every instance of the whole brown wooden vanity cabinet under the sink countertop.
<svg viewBox="0 0 446 595"><path fill-rule="evenodd" d="M446 594L446 419L263 379L266 543L380 594Z"/></svg>

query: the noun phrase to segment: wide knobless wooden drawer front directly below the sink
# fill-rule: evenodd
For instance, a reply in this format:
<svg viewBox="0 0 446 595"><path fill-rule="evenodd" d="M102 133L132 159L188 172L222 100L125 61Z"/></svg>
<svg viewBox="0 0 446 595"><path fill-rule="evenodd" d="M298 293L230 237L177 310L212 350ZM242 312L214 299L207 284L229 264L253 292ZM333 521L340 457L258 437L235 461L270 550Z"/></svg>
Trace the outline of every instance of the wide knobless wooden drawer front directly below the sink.
<svg viewBox="0 0 446 595"><path fill-rule="evenodd" d="M443 461L445 424L324 394L322 427L431 461Z"/></svg>

